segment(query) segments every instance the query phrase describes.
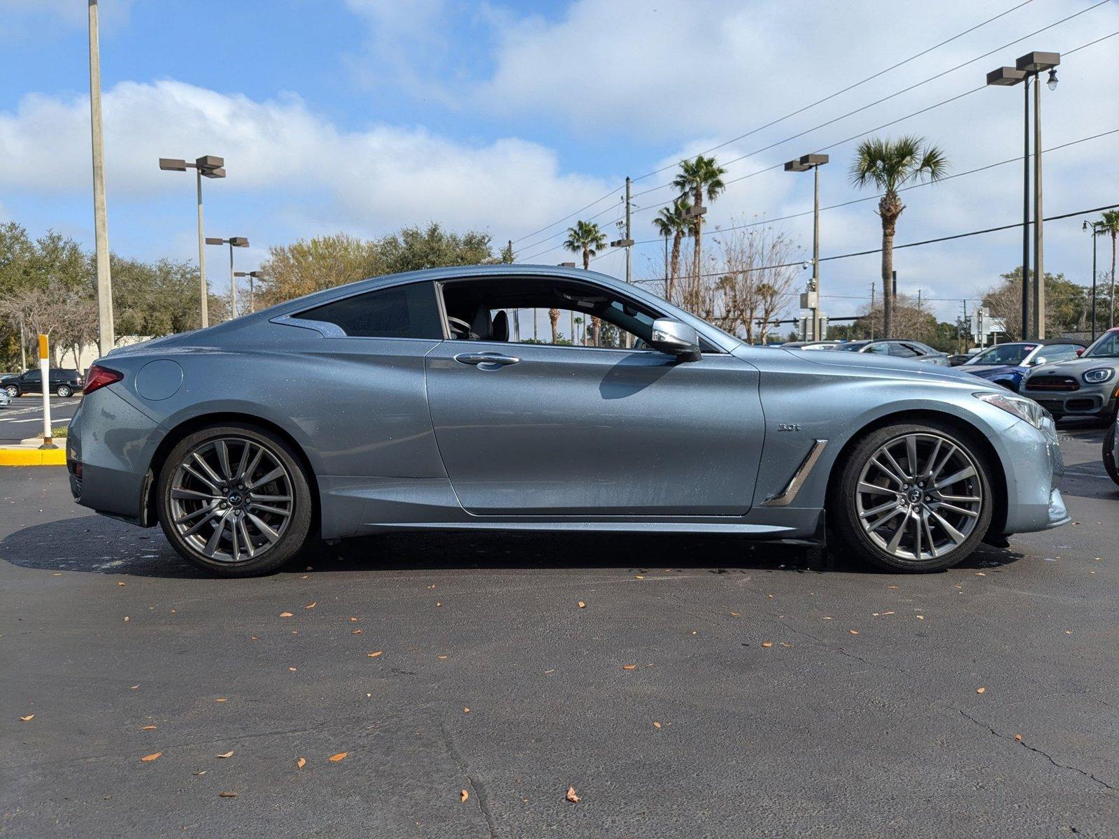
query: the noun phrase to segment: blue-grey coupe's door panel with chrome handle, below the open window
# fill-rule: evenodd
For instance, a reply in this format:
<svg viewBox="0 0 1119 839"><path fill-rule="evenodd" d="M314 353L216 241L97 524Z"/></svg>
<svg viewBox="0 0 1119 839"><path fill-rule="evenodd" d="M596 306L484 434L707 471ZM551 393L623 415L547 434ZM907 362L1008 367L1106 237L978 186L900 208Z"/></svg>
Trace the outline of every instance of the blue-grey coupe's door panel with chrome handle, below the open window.
<svg viewBox="0 0 1119 839"><path fill-rule="evenodd" d="M452 339L425 360L439 451L471 513L750 509L764 434L758 370L728 353L681 362L650 349Z"/></svg>

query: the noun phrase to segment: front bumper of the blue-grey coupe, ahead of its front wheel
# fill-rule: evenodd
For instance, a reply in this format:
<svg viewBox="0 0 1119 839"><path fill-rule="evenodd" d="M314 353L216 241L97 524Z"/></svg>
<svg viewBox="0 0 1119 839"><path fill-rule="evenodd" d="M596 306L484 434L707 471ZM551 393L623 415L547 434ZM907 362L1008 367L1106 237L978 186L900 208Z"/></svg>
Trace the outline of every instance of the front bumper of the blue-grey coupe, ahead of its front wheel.
<svg viewBox="0 0 1119 839"><path fill-rule="evenodd" d="M1072 517L1056 488L1064 474L1064 459L1052 421L1046 421L1040 431L1018 421L989 440L998 451L1006 475L1003 534L1049 530L1070 521Z"/></svg>

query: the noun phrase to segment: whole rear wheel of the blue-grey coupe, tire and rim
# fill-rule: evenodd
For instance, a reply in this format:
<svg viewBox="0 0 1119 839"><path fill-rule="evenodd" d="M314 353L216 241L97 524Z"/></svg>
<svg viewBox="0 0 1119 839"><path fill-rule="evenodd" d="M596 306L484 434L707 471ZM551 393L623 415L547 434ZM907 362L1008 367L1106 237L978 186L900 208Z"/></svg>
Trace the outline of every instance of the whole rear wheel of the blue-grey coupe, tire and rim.
<svg viewBox="0 0 1119 839"><path fill-rule="evenodd" d="M279 569L311 527L311 492L299 458L283 440L251 425L184 437L160 470L157 493L168 540L218 576Z"/></svg>

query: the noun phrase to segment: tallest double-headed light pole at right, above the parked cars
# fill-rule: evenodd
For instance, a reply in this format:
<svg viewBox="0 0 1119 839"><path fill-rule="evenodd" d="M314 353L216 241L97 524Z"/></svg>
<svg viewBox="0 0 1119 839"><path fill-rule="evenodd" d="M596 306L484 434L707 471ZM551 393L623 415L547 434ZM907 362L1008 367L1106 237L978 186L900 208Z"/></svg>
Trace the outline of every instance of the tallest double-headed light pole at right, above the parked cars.
<svg viewBox="0 0 1119 839"><path fill-rule="evenodd" d="M1038 74L1050 70L1050 89L1056 87L1060 53L1028 53L1015 62L1014 67L999 67L987 74L988 85L1010 87L1023 85L1024 125L1022 153L1022 338L1045 337L1045 275L1044 234L1042 221L1042 154L1041 154L1041 79ZM1034 267L1033 283L1029 272L1029 79L1034 79ZM1032 293L1031 293L1032 291ZM1031 317L1031 309L1032 317Z"/></svg>

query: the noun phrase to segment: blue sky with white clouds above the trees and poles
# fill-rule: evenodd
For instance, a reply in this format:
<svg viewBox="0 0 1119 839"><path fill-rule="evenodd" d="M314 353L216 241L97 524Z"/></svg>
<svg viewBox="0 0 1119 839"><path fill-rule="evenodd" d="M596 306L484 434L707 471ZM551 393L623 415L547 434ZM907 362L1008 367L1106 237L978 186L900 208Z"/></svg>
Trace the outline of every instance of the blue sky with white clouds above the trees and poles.
<svg viewBox="0 0 1119 839"><path fill-rule="evenodd" d="M111 244L145 258L191 258L191 179L160 172L157 158L204 153L224 155L229 171L206 185L207 233L248 236L253 247L238 254L245 268L269 245L300 236L376 235L429 219L518 239L610 194L626 175L749 132L999 12L1008 13L721 149L723 160L747 155L728 177L981 86L986 70L1031 49L1066 53L1119 30L1116 2L1052 27L1093 3L1033 0L1008 11L1016 4L102 0ZM0 218L92 243L86 62L85 2L0 0ZM1116 66L1119 37L1062 63L1061 86L1043 91L1046 148L1119 129L1119 96L1106 94ZM1016 92L980 89L881 133L929 136L956 171L1008 159L1021 150ZM1045 155L1047 213L1119 201L1117 138ZM846 178L853 148L829 151L825 205L862 197ZM1017 220L1019 172L1004 166L909 194L899 241ZM642 179L636 189L669 176ZM648 219L670 197L661 189L637 199L636 238L651 238ZM610 223L615 200L610 195L583 215ZM774 218L810 200L810 179L764 172L733 183L708 219L727 226ZM810 219L777 224L810 246ZM878 243L873 201L826 213L821 228L825 255ZM548 236L562 229L524 238L518 251L539 262L568 258L547 249L558 242ZM1090 251L1080 219L1046 233L1047 267L1085 282ZM958 299L1017 264L1017 241L1010 232L900 252L902 290L922 289L941 317L951 317ZM656 245L638 249L639 276L656 274L659 253ZM595 267L618 273L621 257ZM876 273L874 257L828 264L828 310L854 312Z"/></svg>

